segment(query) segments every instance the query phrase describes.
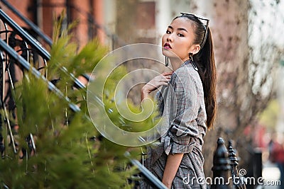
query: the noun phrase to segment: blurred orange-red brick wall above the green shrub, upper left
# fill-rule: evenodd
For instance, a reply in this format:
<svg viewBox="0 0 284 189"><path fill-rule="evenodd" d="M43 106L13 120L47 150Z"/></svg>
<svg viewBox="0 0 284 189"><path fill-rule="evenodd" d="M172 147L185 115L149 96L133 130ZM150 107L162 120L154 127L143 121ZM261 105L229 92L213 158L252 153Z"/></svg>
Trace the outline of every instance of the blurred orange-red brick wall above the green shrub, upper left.
<svg viewBox="0 0 284 189"><path fill-rule="evenodd" d="M104 41L102 30L97 30L94 23L102 24L102 0L10 0L9 3L14 6L23 16L30 19L38 25L43 32L52 38L54 19L60 16L62 10L67 13L67 21L80 21L72 33L80 47L85 45L93 37L99 37ZM9 11L4 4L0 3L1 8L22 27L28 27L23 21Z"/></svg>

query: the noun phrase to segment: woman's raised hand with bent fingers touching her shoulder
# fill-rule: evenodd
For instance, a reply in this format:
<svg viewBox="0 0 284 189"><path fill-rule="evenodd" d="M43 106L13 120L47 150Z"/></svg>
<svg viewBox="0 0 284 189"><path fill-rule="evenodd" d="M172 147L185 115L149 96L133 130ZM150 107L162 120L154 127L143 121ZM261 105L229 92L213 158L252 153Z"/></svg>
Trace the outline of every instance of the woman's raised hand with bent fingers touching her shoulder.
<svg viewBox="0 0 284 189"><path fill-rule="evenodd" d="M160 86L168 86L168 82L170 81L170 76L172 74L173 71L164 72L159 76L155 76L151 81L149 81L145 86L143 86L141 88L141 101L143 101L144 98L148 98L148 95Z"/></svg>

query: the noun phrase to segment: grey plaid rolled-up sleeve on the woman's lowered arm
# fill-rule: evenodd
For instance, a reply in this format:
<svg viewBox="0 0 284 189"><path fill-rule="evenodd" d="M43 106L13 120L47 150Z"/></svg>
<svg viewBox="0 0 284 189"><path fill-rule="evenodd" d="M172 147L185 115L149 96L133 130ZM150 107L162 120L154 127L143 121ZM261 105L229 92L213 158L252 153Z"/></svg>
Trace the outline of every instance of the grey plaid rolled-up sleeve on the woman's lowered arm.
<svg viewBox="0 0 284 189"><path fill-rule="evenodd" d="M170 110L165 111L170 112L172 119L169 120L170 129L164 140L166 154L189 153L195 145L192 138L199 134L197 115L200 110L200 98L203 97L200 96L196 75L192 75L188 69L183 67L178 70L170 81L173 90L170 105L165 107Z"/></svg>

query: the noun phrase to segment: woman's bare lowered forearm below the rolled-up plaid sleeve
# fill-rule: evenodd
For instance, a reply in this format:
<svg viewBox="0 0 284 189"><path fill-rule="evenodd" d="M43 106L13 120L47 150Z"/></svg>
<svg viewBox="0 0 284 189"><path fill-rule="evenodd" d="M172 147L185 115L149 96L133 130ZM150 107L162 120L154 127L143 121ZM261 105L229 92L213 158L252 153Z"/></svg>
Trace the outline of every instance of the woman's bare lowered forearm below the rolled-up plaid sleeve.
<svg viewBox="0 0 284 189"><path fill-rule="evenodd" d="M183 154L169 154L167 162L165 164L165 171L163 174L162 182L163 184L171 188L175 174L178 171L180 162L182 161Z"/></svg>

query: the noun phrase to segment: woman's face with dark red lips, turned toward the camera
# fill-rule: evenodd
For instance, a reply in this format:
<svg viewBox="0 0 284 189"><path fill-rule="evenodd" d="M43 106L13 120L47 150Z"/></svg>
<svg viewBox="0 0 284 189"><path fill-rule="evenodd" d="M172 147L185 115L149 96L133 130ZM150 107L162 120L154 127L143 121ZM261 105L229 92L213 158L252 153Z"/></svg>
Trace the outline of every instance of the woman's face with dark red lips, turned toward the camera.
<svg viewBox="0 0 284 189"><path fill-rule="evenodd" d="M200 45L193 45L195 39L192 23L188 18L176 18L170 23L162 38L163 55L178 56L183 62L189 59L188 54L197 53Z"/></svg>

